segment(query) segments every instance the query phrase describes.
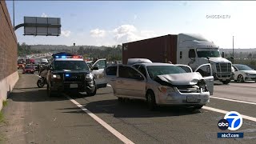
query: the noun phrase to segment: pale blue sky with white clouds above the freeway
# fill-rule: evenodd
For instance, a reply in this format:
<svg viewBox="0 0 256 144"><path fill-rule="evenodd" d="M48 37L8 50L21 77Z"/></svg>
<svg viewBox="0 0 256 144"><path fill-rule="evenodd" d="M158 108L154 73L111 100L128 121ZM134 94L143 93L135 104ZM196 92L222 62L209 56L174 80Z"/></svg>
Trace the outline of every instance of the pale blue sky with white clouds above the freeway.
<svg viewBox="0 0 256 144"><path fill-rule="evenodd" d="M6 1L11 19L13 2ZM59 37L23 36L18 42L112 46L164 34L196 33L221 48L256 48L256 2L16 1L15 25L24 16L61 18ZM213 18L212 15L224 15Z"/></svg>

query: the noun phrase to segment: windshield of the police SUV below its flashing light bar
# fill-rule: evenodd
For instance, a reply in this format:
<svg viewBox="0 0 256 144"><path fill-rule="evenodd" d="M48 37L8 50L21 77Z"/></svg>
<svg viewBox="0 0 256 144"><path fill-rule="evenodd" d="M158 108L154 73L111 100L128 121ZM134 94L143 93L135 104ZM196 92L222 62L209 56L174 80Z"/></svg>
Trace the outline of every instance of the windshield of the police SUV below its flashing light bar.
<svg viewBox="0 0 256 144"><path fill-rule="evenodd" d="M54 70L90 70L83 61L55 61Z"/></svg>

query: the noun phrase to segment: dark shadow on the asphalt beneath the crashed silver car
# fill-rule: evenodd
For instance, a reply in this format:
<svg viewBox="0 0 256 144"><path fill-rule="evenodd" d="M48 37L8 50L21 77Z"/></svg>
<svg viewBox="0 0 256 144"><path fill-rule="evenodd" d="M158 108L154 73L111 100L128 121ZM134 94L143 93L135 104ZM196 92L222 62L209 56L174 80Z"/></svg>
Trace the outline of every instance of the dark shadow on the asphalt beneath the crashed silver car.
<svg viewBox="0 0 256 144"><path fill-rule="evenodd" d="M146 106L146 102L132 100L129 102L118 102L117 99L90 102L83 105L87 110L94 114L113 114L115 118L153 118L153 117L170 117L182 116L201 113L200 110L181 106L159 106L157 110L151 111ZM70 111L74 110L74 111ZM80 108L67 108L64 113L81 114L85 113Z"/></svg>

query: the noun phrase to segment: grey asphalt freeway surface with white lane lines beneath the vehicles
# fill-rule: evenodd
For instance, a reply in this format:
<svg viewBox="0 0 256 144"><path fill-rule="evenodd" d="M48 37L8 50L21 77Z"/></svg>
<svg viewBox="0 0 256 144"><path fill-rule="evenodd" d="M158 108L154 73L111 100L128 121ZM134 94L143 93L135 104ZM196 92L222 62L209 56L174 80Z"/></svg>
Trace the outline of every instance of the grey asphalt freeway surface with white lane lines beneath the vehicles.
<svg viewBox="0 0 256 144"><path fill-rule="evenodd" d="M110 86L93 97L73 92L48 98L37 80L20 74L2 110L0 143L256 143L255 82L216 83L202 110L150 111L145 102L118 102ZM225 111L245 116L239 130L218 129ZM242 132L244 138L217 138L218 132Z"/></svg>

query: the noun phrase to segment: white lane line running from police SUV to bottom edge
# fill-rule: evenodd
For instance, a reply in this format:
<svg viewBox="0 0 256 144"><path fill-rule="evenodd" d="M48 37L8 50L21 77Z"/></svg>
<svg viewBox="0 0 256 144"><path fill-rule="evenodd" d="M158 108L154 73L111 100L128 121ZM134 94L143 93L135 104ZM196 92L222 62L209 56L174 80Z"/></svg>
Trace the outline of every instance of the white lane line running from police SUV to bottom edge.
<svg viewBox="0 0 256 144"><path fill-rule="evenodd" d="M66 94L65 94L66 95ZM106 130L109 130L110 133L114 134L117 138L119 138L124 143L134 144L134 142L131 142L130 139L126 138L124 135L118 132L118 130L114 130L113 127L111 127L109 124L104 122L101 118L98 118L97 115L90 112L90 110L87 110L84 106L82 106L80 103L76 102L73 98L70 98L66 95L66 98L70 99L71 102L73 102L76 106L80 107L86 114L90 115L91 118L94 118L95 121L97 121L99 124L101 124L103 127L106 128Z"/></svg>

